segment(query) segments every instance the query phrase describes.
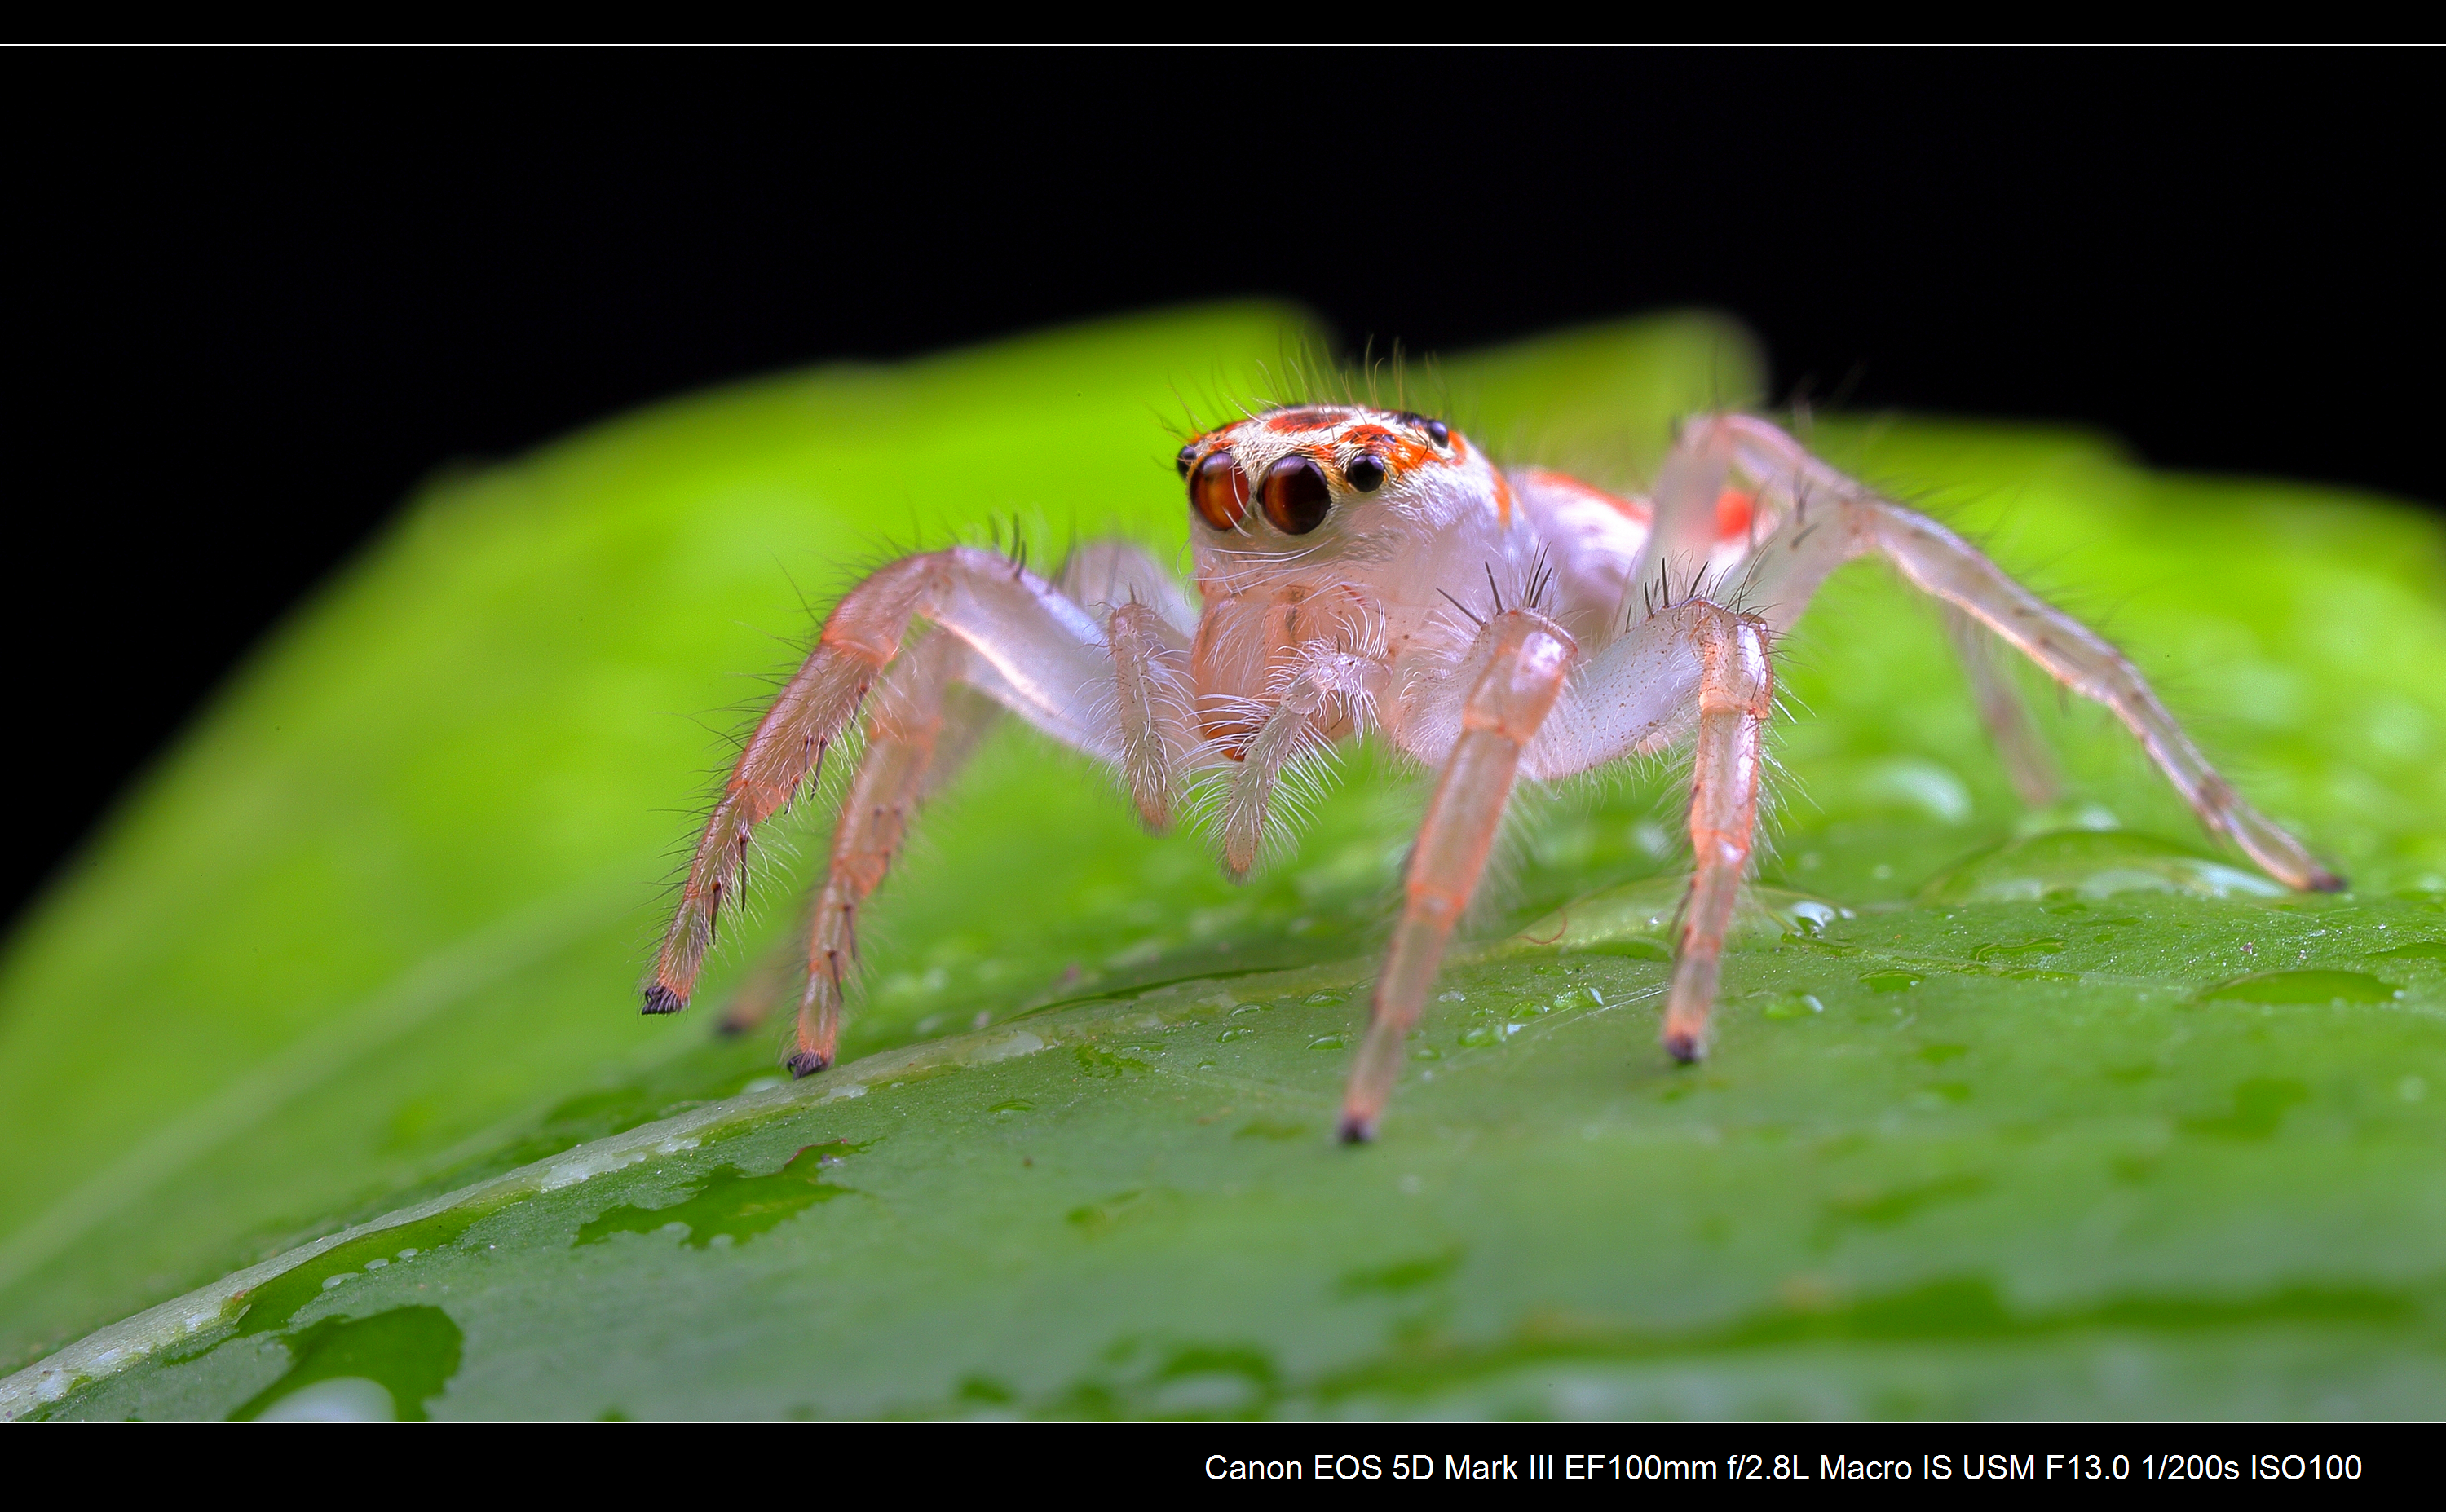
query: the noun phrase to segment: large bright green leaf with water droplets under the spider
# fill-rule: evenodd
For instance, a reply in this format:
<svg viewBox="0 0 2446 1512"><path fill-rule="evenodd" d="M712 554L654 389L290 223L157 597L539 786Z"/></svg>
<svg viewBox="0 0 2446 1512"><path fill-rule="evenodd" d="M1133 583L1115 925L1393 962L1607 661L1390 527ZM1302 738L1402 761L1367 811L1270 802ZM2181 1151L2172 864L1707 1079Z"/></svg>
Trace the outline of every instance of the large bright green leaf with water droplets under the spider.
<svg viewBox="0 0 2446 1512"><path fill-rule="evenodd" d="M773 379L435 484L12 947L0 1326L56 1353L0 1412L2434 1412L2446 546L2084 435L1815 443L2104 619L2351 895L2219 856L2089 707L2040 712L2072 798L2018 812L1932 614L1861 565L1781 658L1705 1067L1656 1047L1671 771L1531 805L1384 1140L1340 1150L1416 778L1358 756L1230 888L1015 729L878 895L849 1064L636 1018L719 761L687 714L788 661L793 575L1010 511L1177 548L1167 384L1247 394L1282 333ZM1455 360L1436 404L1629 482L1751 372L1639 323Z"/></svg>

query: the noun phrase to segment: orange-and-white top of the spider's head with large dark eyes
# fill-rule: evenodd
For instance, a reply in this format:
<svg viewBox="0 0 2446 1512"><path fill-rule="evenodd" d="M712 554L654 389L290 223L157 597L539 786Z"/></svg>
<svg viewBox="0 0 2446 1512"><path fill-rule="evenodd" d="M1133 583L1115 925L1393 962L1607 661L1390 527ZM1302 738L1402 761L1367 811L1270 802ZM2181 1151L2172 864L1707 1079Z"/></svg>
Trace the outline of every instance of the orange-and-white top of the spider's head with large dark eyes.
<svg viewBox="0 0 2446 1512"><path fill-rule="evenodd" d="M1314 550L1448 511L1497 475L1460 431L1409 411L1296 404L1179 455L1201 546ZM1485 477L1480 477L1485 475Z"/></svg>

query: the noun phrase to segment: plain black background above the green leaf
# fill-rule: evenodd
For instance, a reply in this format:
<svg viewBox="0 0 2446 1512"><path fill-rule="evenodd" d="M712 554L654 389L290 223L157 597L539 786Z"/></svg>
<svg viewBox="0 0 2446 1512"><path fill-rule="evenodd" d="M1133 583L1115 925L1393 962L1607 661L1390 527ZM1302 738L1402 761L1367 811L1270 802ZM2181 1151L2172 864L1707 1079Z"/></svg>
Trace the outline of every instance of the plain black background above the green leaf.
<svg viewBox="0 0 2446 1512"><path fill-rule="evenodd" d="M17 51L0 910L428 472L1230 294L2436 504L2434 54ZM917 465L912 460L912 465Z"/></svg>

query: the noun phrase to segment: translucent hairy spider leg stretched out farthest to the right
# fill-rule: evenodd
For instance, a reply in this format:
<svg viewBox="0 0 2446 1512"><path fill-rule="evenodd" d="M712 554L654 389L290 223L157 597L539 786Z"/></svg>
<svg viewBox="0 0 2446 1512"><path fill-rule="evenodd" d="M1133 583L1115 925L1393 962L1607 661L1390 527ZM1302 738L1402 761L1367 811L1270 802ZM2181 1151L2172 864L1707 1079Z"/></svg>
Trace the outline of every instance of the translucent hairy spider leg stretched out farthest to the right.
<svg viewBox="0 0 2446 1512"><path fill-rule="evenodd" d="M1854 555L1883 553L1913 587L1962 609L2072 692L2106 705L2140 739L2199 822L2238 844L2267 876L2314 893L2343 891L2341 876L2314 861L2299 839L2250 807L2209 766L2157 702L2140 668L2079 619L2006 577L1969 541L1925 514L1876 497L1766 421L1717 416L1685 433L1685 445L1722 448L1761 489L1773 489L1786 502L1808 502L1805 511L1793 509L1786 528L1761 543L1751 563L1749 599L1771 631L1788 629L1835 568Z"/></svg>

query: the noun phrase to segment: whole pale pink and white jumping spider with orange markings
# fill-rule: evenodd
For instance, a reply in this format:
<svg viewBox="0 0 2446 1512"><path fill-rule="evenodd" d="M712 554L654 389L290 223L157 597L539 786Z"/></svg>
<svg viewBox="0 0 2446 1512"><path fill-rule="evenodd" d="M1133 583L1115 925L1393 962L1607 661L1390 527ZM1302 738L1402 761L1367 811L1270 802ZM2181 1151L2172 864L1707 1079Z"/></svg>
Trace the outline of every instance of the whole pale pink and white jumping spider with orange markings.
<svg viewBox="0 0 2446 1512"><path fill-rule="evenodd" d="M1375 1133L1514 785L1695 746L1695 871L1663 1020L1666 1050L1695 1059L1751 859L1771 646L1827 573L1866 553L1945 599L2023 795L2045 798L2052 766L1989 661L1996 641L2113 710L2201 822L2272 876L2343 886L2209 768L2113 646L1766 421L1693 421L1644 499L1499 470L1443 421L1336 404L1247 416L1177 462L1196 604L1118 541L1079 548L1054 580L991 550L932 550L841 599L707 822L648 1013L687 1003L756 825L863 707L790 1054L802 1077L832 1064L859 908L917 800L1000 707L1108 761L1150 829L1172 822L1186 783L1213 783L1233 876L1279 827L1284 773L1338 741L1380 729L1436 771L1343 1101L1348 1140ZM983 700L947 697L961 685Z"/></svg>

